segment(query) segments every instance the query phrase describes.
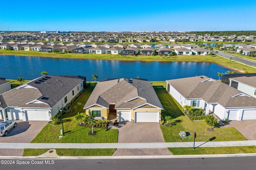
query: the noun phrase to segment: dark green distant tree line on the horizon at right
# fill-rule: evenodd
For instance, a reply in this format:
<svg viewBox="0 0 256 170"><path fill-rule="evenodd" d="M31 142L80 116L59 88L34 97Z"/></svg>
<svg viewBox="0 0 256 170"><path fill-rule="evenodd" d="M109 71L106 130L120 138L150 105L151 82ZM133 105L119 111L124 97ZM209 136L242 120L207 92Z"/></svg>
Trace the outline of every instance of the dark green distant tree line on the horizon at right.
<svg viewBox="0 0 256 170"><path fill-rule="evenodd" d="M204 35L206 33L210 34L211 36L213 35L256 35L256 31L191 31L190 33L196 34L196 35Z"/></svg>

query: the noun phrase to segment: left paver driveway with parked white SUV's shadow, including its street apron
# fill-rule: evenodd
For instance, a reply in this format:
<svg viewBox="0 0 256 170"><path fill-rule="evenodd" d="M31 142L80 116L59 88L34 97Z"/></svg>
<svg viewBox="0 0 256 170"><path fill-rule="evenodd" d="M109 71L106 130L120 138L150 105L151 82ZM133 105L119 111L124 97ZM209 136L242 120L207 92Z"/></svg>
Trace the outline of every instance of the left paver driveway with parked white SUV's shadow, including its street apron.
<svg viewBox="0 0 256 170"><path fill-rule="evenodd" d="M1 143L30 143L43 129L48 121L22 121L17 120L17 127L13 128L7 136L0 137ZM22 156L23 149L0 149L1 156Z"/></svg>

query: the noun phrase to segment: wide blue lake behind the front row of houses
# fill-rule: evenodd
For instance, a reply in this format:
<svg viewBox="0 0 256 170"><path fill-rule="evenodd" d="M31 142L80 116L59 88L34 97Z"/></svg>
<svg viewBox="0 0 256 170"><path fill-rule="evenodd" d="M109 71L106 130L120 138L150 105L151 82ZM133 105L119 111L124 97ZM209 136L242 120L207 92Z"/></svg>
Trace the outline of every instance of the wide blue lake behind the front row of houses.
<svg viewBox="0 0 256 170"><path fill-rule="evenodd" d="M146 78L149 81L165 81L176 78L205 75L218 79L217 72L229 70L206 62L146 62L30 57L0 55L0 77L32 80L42 71L51 75L80 75L92 81L92 74L102 78Z"/></svg>

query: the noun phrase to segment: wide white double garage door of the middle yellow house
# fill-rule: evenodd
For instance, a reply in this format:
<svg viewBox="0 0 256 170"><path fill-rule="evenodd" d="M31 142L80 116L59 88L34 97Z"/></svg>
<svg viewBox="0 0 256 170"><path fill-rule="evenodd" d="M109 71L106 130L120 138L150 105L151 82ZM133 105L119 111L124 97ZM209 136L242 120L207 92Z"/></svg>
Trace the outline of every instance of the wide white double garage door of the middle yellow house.
<svg viewBox="0 0 256 170"><path fill-rule="evenodd" d="M135 112L135 122L159 122L158 111L141 111Z"/></svg>

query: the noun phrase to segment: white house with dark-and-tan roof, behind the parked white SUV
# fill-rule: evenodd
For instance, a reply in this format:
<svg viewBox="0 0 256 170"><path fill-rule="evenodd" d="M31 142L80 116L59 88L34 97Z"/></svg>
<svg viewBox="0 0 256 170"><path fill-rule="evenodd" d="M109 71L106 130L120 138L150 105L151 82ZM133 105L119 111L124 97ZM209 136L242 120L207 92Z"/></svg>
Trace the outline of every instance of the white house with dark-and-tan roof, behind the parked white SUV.
<svg viewBox="0 0 256 170"><path fill-rule="evenodd" d="M82 76L46 75L0 95L0 115L23 121L44 120L56 115L83 88ZM4 120L6 121L6 120Z"/></svg>

